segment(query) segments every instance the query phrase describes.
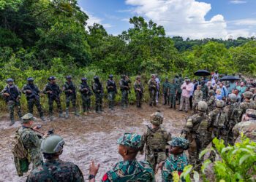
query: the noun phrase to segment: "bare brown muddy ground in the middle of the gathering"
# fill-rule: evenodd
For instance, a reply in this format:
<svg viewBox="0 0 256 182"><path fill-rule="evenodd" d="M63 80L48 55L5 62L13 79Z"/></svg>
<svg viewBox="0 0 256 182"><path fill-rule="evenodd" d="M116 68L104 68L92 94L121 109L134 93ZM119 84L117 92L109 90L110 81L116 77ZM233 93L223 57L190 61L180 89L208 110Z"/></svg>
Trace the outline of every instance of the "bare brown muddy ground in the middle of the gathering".
<svg viewBox="0 0 256 182"><path fill-rule="evenodd" d="M60 158L78 165L86 181L88 181L89 162L94 159L100 163L101 167L97 175L97 181L99 181L113 164L121 160L117 152L118 137L124 132L138 132L139 134L146 132L146 124L150 124L149 116L157 110L162 111L165 116L163 124L165 129L172 135L179 135L189 114L174 111L167 106L149 107L146 104L141 109L130 106L125 110L117 107L115 111L108 111L108 108L105 108L102 114L93 113L79 117L71 115L70 119L56 118L54 122L47 123L42 123L38 119L38 123L42 124L42 132L54 128L56 134L64 137L64 152ZM9 146L18 127L20 127L19 122L9 127L8 115L1 114L0 181L26 181L28 174L24 177L18 177L16 174ZM138 154L138 159L143 158ZM157 178L159 181L159 175Z"/></svg>

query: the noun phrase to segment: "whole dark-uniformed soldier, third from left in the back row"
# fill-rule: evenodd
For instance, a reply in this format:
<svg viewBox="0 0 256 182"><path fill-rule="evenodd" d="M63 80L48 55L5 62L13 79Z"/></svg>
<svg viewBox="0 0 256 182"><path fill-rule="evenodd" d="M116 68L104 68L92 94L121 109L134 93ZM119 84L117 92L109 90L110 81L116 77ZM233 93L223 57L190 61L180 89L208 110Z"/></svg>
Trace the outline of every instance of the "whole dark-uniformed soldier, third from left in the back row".
<svg viewBox="0 0 256 182"><path fill-rule="evenodd" d="M62 114L61 108L61 89L58 84L56 84L56 77L50 76L48 84L45 85L45 88L42 92L48 95L48 103L49 103L49 114L50 114L50 121L53 120L53 101L56 102L58 110L59 110L59 117L64 117Z"/></svg>

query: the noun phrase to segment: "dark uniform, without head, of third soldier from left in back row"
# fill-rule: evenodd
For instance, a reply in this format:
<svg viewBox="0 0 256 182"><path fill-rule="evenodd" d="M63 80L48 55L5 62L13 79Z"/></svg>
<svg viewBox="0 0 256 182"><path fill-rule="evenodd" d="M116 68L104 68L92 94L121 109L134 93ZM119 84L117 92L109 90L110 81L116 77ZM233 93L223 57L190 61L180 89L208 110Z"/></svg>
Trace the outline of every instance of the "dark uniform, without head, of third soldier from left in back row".
<svg viewBox="0 0 256 182"><path fill-rule="evenodd" d="M47 93L48 91L51 91L52 93ZM48 95L48 104L49 104L49 114L50 116L53 115L53 101L56 102L59 114L62 114L62 108L61 108L61 89L58 84L51 84L48 83L45 85L45 88L43 91L45 94Z"/></svg>

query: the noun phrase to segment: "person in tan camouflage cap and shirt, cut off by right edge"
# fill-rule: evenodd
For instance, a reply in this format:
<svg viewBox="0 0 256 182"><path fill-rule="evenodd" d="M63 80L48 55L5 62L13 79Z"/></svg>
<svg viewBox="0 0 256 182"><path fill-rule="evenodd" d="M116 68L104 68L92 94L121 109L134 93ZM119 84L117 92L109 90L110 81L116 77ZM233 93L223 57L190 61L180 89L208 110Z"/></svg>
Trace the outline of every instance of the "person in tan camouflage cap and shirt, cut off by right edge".
<svg viewBox="0 0 256 182"><path fill-rule="evenodd" d="M233 127L234 141L241 135L241 132L251 141L256 142L256 110L247 109L244 120Z"/></svg>

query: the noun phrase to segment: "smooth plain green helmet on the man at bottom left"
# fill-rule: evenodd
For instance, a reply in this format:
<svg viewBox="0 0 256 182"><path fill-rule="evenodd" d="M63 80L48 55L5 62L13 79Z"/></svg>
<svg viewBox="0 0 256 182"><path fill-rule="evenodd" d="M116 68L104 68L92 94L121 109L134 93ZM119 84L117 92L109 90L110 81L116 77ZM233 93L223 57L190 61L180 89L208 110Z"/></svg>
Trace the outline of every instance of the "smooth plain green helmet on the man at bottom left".
<svg viewBox="0 0 256 182"><path fill-rule="evenodd" d="M45 154L55 154L61 151L64 140L60 135L50 135L41 143L41 151Z"/></svg>

